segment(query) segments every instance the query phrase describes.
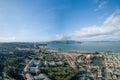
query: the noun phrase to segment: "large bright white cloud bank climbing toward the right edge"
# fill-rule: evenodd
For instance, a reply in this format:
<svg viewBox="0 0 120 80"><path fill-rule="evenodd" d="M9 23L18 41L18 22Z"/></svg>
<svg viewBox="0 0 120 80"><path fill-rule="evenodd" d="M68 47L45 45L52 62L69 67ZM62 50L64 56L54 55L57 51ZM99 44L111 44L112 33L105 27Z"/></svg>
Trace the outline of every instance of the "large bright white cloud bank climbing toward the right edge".
<svg viewBox="0 0 120 80"><path fill-rule="evenodd" d="M98 36L117 36L120 34L120 10L116 10L110 15L101 26L90 26L75 31L74 36L79 38L89 38Z"/></svg>

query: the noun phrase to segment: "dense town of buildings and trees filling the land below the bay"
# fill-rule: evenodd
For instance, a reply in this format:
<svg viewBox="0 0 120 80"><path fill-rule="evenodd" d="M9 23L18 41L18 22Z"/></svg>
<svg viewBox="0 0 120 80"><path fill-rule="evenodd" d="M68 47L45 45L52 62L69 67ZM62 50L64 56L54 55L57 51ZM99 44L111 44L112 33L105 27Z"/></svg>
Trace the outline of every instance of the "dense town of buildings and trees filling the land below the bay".
<svg viewBox="0 0 120 80"><path fill-rule="evenodd" d="M120 54L0 43L0 80L120 80Z"/></svg>

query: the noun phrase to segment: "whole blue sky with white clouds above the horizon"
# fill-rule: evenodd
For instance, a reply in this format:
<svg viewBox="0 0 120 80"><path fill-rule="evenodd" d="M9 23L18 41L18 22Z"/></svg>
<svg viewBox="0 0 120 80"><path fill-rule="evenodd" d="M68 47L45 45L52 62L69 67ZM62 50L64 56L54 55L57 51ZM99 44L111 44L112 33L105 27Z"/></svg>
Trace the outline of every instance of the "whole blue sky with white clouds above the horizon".
<svg viewBox="0 0 120 80"><path fill-rule="evenodd" d="M120 0L0 0L0 42L120 41Z"/></svg>

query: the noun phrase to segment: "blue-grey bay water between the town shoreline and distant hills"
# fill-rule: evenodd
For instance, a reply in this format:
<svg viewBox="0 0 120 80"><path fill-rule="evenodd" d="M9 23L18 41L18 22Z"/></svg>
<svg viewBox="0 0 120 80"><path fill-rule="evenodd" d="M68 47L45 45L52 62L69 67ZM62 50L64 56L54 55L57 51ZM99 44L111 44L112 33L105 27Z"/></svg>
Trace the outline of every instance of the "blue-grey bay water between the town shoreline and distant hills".
<svg viewBox="0 0 120 80"><path fill-rule="evenodd" d="M120 52L120 41L109 41L109 42L82 42L81 44L63 44L63 43L49 43L48 48L62 50L79 50L79 51L112 51Z"/></svg>

